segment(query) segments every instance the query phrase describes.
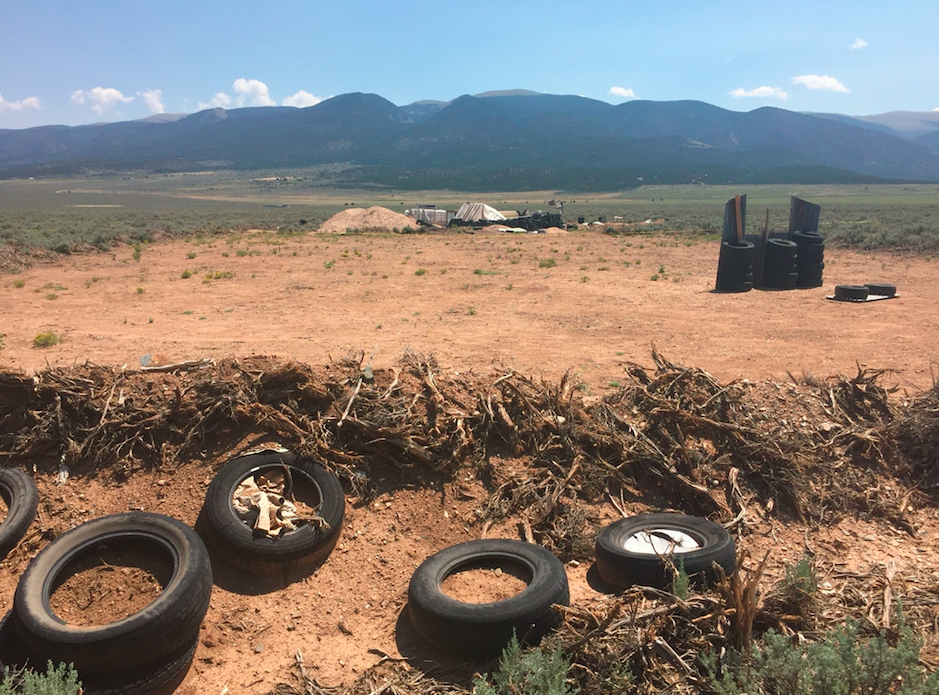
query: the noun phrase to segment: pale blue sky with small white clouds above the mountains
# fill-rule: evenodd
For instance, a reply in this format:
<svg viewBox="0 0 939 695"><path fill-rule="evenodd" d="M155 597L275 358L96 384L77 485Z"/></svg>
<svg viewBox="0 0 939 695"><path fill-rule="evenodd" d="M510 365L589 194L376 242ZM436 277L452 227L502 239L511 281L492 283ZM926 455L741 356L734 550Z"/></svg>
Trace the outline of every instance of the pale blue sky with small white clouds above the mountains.
<svg viewBox="0 0 939 695"><path fill-rule="evenodd" d="M524 88L939 109L939 1L0 0L0 128Z"/></svg>

